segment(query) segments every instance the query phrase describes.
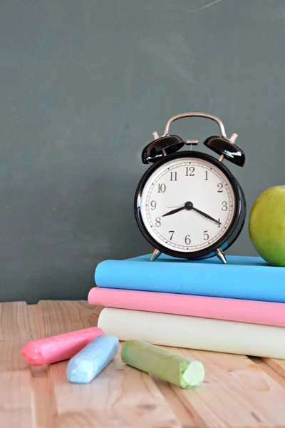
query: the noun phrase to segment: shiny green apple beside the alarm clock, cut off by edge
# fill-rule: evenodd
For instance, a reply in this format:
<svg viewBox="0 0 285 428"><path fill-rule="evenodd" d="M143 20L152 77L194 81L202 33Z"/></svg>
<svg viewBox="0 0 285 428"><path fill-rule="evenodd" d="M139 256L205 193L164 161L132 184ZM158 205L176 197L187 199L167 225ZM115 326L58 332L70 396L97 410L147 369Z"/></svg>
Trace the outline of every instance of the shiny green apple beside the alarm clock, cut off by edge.
<svg viewBox="0 0 285 428"><path fill-rule="evenodd" d="M285 185L264 190L249 214L249 236L272 266L285 266Z"/></svg>

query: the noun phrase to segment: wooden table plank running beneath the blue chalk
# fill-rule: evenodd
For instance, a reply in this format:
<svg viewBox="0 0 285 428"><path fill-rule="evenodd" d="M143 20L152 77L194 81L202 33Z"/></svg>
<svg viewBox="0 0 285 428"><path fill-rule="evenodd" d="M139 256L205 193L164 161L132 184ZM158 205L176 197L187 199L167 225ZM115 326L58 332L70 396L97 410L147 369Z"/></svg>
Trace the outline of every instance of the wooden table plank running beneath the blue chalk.
<svg viewBox="0 0 285 428"><path fill-rule="evenodd" d="M45 335L97 325L98 310L86 302L39 302ZM155 382L128 367L120 353L90 384L71 384L67 362L49 367L58 428L180 427Z"/></svg>

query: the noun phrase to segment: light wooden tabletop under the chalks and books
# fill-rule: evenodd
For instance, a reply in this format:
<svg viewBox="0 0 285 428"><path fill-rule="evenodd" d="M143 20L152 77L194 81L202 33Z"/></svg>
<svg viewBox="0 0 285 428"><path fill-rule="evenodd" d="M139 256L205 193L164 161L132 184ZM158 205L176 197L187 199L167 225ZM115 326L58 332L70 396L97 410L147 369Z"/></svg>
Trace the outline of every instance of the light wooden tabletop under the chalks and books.
<svg viewBox="0 0 285 428"><path fill-rule="evenodd" d="M175 348L206 370L184 390L120 355L86 385L67 381L67 362L35 370L21 357L28 340L95 326L99 313L85 301L0 304L1 428L285 427L283 360Z"/></svg>

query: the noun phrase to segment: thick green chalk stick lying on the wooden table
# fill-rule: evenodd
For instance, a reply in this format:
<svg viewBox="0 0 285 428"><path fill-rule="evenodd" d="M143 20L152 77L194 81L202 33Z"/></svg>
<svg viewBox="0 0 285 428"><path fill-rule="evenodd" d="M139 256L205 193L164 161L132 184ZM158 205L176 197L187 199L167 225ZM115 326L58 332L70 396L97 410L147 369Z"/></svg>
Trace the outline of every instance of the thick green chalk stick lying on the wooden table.
<svg viewBox="0 0 285 428"><path fill-rule="evenodd" d="M202 362L140 340L125 342L121 358L125 364L178 387L197 387L204 379L205 372Z"/></svg>

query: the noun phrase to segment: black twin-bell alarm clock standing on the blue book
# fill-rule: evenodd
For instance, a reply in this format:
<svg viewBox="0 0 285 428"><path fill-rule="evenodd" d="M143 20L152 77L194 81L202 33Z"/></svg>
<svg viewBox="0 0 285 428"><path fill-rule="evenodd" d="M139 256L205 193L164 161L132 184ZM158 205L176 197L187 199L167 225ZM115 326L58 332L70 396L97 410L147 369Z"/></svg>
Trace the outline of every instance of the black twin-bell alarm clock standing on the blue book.
<svg viewBox="0 0 285 428"><path fill-rule="evenodd" d="M184 141L169 133L181 118L202 117L219 126L204 146L219 157L192 150L197 140ZM170 118L162 136L142 150L142 163L150 165L135 192L135 220L154 248L150 261L161 253L199 260L217 256L237 240L246 217L246 200L237 178L223 161L244 166L244 152L235 144L237 133L227 137L222 121L207 113L181 113ZM184 146L188 150L180 151Z"/></svg>

